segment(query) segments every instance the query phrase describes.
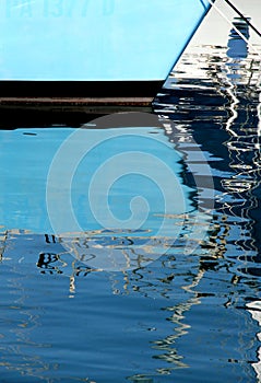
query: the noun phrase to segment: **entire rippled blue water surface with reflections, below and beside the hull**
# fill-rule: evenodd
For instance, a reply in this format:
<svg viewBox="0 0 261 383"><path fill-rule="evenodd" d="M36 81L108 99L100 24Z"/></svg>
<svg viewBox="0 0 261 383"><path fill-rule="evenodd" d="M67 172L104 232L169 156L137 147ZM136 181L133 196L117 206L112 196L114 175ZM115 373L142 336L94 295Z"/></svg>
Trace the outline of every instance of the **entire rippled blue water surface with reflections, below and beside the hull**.
<svg viewBox="0 0 261 383"><path fill-rule="evenodd" d="M0 132L1 382L260 382L261 71L244 55L186 54L162 127Z"/></svg>

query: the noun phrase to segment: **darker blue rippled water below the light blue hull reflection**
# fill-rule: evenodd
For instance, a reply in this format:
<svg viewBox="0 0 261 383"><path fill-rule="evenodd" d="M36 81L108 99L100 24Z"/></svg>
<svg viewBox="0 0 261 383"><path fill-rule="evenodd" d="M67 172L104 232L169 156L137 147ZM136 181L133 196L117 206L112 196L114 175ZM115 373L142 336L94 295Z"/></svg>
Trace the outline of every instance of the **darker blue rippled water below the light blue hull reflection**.
<svg viewBox="0 0 261 383"><path fill-rule="evenodd" d="M72 271L60 244L36 259L50 247L28 242L13 235L2 260L3 382L254 380L257 325L239 302L252 288L222 263L199 269L180 252L124 275Z"/></svg>

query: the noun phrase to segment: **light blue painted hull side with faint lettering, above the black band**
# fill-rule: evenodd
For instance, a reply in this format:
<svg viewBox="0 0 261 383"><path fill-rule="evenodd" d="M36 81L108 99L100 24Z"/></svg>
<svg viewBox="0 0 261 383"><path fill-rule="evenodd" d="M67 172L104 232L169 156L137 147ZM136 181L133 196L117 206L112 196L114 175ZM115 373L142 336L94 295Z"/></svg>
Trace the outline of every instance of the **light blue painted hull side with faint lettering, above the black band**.
<svg viewBox="0 0 261 383"><path fill-rule="evenodd" d="M207 0L2 0L0 80L165 80Z"/></svg>

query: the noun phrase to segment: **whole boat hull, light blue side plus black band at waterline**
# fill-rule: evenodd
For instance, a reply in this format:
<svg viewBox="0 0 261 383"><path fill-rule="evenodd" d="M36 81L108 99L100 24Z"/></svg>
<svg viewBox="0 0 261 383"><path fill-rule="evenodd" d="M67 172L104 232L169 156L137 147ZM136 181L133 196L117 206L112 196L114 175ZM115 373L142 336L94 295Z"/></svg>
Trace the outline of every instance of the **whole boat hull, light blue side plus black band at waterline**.
<svg viewBox="0 0 261 383"><path fill-rule="evenodd" d="M152 112L209 9L207 0L1 1L2 120Z"/></svg>

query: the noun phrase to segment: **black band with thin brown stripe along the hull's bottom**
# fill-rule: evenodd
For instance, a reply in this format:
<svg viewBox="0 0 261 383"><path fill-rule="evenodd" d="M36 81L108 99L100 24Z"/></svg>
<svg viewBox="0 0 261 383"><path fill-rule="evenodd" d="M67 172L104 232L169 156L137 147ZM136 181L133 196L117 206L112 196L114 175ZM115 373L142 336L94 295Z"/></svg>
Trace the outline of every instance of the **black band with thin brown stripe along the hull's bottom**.
<svg viewBox="0 0 261 383"><path fill-rule="evenodd" d="M119 112L152 112L164 81L0 81L0 128L80 126Z"/></svg>

